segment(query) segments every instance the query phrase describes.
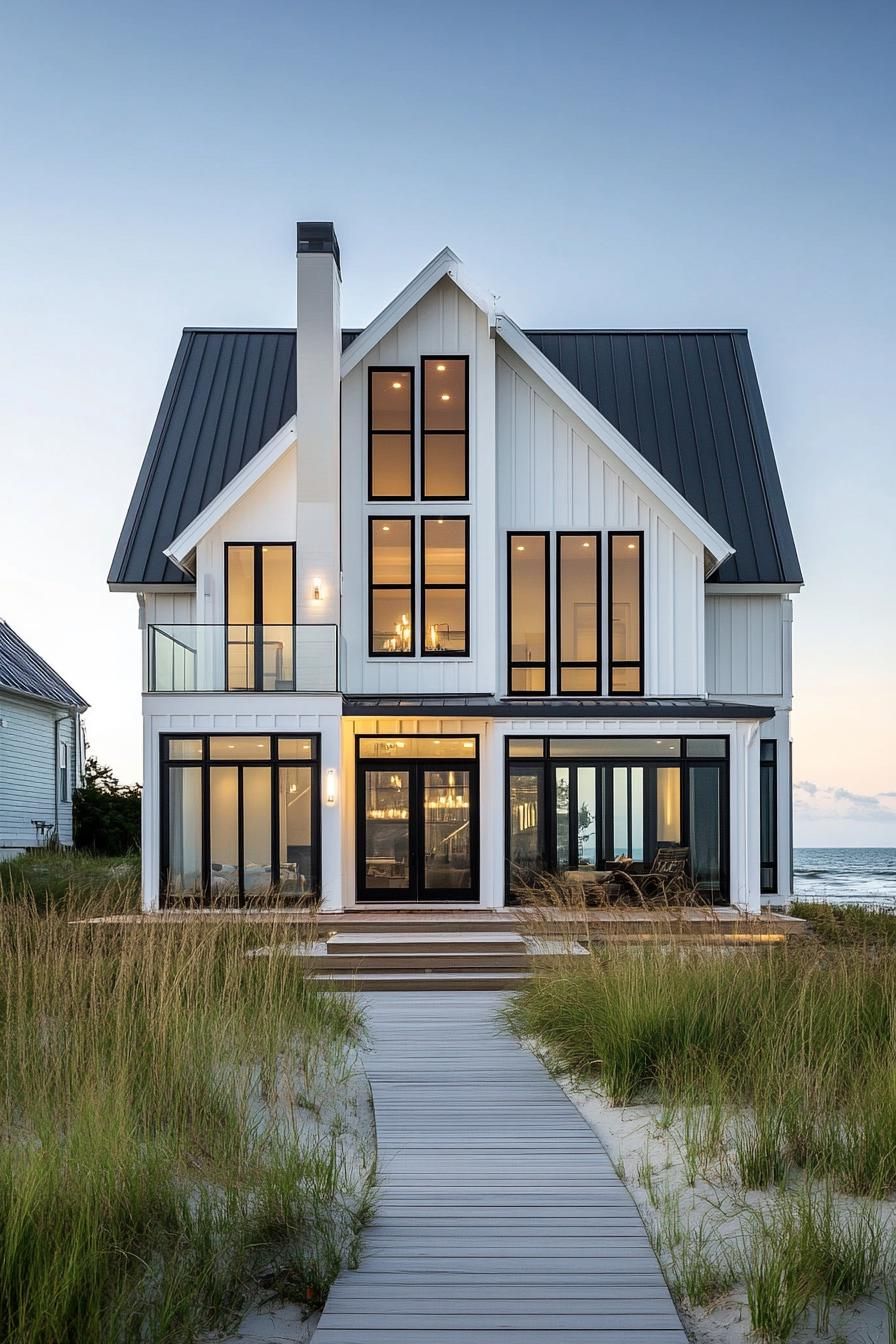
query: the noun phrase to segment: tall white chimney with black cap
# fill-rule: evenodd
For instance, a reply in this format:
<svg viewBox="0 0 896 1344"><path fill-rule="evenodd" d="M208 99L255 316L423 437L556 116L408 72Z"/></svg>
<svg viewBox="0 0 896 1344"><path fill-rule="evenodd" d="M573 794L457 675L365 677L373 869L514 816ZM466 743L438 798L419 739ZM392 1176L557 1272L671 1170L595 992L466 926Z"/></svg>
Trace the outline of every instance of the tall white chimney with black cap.
<svg viewBox="0 0 896 1344"><path fill-rule="evenodd" d="M337 625L343 277L332 223L298 224L297 273L297 620Z"/></svg>

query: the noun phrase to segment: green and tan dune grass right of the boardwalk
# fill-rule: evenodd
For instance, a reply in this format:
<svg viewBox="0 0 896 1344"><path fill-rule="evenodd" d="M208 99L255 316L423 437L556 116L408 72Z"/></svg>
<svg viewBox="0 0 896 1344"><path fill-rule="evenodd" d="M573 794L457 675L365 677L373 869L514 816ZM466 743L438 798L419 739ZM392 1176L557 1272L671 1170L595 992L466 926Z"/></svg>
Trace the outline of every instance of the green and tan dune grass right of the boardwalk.
<svg viewBox="0 0 896 1344"><path fill-rule="evenodd" d="M880 943L562 956L506 1016L613 1103L657 1103L685 1185L700 1176L746 1211L732 1247L641 1180L680 1301L742 1284L754 1332L779 1341L893 1277L892 1232L861 1199L896 1192L896 957Z"/></svg>

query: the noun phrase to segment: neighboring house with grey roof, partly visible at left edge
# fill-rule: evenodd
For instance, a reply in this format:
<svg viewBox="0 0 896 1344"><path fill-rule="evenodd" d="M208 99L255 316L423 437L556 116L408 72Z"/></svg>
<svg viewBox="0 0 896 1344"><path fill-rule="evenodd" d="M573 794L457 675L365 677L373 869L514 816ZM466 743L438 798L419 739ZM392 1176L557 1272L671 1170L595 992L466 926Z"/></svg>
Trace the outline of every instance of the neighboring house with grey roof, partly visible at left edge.
<svg viewBox="0 0 896 1344"><path fill-rule="evenodd" d="M71 844L86 708L87 702L0 621L0 859L52 836Z"/></svg>

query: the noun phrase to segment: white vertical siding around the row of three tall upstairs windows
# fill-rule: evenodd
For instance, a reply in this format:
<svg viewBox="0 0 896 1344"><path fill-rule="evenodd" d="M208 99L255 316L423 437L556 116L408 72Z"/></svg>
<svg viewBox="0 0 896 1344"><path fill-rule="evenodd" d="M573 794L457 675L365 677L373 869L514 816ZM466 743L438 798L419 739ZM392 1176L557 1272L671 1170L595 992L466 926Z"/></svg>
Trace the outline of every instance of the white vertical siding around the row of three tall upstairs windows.
<svg viewBox="0 0 896 1344"><path fill-rule="evenodd" d="M701 543L610 453L578 417L497 341L497 527L520 531L643 534L645 695L703 695L704 552ZM551 587L556 550L552 539ZM506 591L506 554L498 554L498 591ZM555 594L551 593L552 606ZM506 603L498 603L501 648ZM606 620L603 661L607 660ZM502 688L506 673L502 673Z"/></svg>

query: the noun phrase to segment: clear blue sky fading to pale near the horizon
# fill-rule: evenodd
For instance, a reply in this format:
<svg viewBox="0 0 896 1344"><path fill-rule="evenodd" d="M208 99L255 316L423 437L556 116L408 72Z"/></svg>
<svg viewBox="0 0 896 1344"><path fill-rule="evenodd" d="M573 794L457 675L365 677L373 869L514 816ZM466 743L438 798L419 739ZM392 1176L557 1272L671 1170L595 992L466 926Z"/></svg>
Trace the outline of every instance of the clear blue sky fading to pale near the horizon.
<svg viewBox="0 0 896 1344"><path fill-rule="evenodd" d="M181 327L344 319L449 243L523 325L750 328L807 586L797 841L896 844L892 4L23 4L0 16L0 616L138 774L105 577Z"/></svg>

